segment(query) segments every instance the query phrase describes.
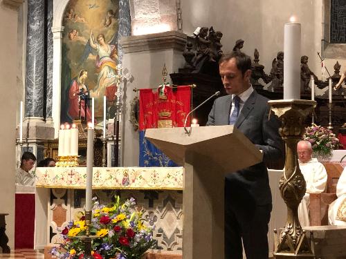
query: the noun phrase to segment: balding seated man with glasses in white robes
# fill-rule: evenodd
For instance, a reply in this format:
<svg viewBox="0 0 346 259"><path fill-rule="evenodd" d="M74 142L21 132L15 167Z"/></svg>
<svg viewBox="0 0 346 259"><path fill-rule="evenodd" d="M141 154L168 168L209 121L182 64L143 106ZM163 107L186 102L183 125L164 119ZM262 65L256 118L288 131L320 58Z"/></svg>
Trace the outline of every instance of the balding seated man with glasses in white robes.
<svg viewBox="0 0 346 259"><path fill-rule="evenodd" d="M302 227L308 227L310 226L310 193L322 193L325 191L327 171L323 164L318 162L316 158L311 157L312 147L310 142L306 140L298 142L297 153L300 171L304 176L305 182L307 182L307 191L298 207L298 217Z"/></svg>

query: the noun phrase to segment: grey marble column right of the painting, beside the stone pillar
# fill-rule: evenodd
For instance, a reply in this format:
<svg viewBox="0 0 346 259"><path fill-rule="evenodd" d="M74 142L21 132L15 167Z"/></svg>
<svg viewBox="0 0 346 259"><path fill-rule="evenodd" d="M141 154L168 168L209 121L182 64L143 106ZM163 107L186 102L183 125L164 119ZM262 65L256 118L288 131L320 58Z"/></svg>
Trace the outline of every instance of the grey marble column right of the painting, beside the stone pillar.
<svg viewBox="0 0 346 259"><path fill-rule="evenodd" d="M122 61L123 50L120 44L121 37L131 35L131 15L129 0L119 1L119 28L118 28L118 59L119 63Z"/></svg>

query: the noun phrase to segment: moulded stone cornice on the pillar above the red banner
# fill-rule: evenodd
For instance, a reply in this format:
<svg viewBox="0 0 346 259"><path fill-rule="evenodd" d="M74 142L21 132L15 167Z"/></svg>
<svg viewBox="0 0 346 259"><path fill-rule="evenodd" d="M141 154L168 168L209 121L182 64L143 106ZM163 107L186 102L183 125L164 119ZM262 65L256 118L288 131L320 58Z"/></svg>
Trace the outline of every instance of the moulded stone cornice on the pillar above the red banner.
<svg viewBox="0 0 346 259"><path fill-rule="evenodd" d="M120 44L125 53L146 50L161 50L173 48L183 51L187 36L181 32L170 31L150 35L122 37Z"/></svg>

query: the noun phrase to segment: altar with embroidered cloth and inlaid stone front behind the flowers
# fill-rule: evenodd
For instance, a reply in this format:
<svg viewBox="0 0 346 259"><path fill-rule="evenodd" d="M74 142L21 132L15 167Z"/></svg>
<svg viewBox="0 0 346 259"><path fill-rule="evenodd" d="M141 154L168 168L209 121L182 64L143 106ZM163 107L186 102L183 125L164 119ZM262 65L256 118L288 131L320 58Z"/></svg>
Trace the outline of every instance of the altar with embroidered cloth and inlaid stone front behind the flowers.
<svg viewBox="0 0 346 259"><path fill-rule="evenodd" d="M85 167L36 169L34 249L62 241L60 232L84 215ZM94 167L93 197L101 204L134 197L143 218L155 225L156 249L182 250L183 167Z"/></svg>

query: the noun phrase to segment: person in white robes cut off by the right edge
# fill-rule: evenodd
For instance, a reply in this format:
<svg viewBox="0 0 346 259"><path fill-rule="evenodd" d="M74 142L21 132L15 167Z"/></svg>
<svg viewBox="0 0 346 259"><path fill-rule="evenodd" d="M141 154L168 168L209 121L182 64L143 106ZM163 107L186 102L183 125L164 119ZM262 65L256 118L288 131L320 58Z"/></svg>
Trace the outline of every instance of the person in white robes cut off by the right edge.
<svg viewBox="0 0 346 259"><path fill-rule="evenodd" d="M336 185L336 196L338 198L329 205L329 224L346 226L346 167Z"/></svg>

